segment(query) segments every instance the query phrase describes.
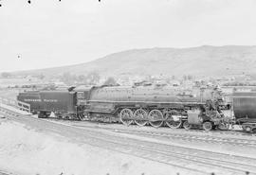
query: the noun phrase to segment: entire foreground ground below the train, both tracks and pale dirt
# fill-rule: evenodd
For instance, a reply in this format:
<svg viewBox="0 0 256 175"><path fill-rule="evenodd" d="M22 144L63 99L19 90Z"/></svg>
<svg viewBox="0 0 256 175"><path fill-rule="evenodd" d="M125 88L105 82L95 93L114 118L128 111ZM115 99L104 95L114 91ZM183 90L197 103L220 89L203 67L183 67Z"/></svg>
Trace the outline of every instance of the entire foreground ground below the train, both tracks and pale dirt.
<svg viewBox="0 0 256 175"><path fill-rule="evenodd" d="M247 133L2 113L0 172L7 174L256 174L256 137Z"/></svg>

